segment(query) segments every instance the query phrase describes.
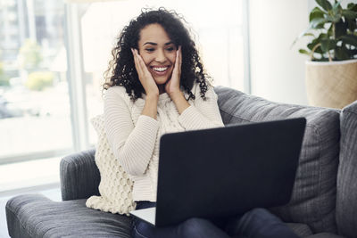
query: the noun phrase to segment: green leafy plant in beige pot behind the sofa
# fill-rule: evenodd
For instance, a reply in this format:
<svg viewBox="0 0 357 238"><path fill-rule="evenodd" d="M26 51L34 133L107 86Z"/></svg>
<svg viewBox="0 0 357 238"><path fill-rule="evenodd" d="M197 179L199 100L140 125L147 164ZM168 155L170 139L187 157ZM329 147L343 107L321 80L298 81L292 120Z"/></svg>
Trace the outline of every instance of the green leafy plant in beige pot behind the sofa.
<svg viewBox="0 0 357 238"><path fill-rule="evenodd" d="M300 37L311 37L307 49L306 89L313 106L343 108L357 100L357 4L316 0L310 25ZM298 37L298 38L300 38Z"/></svg>

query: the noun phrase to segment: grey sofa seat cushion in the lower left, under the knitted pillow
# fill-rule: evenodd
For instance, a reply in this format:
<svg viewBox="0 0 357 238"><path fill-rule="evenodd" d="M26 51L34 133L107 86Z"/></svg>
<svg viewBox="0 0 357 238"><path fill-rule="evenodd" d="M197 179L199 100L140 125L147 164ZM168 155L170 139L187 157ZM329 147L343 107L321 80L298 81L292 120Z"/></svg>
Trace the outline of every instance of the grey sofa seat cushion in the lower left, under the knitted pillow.
<svg viewBox="0 0 357 238"><path fill-rule="evenodd" d="M86 200L51 201L27 194L6 204L11 237L120 237L129 238L131 218L88 209Z"/></svg>

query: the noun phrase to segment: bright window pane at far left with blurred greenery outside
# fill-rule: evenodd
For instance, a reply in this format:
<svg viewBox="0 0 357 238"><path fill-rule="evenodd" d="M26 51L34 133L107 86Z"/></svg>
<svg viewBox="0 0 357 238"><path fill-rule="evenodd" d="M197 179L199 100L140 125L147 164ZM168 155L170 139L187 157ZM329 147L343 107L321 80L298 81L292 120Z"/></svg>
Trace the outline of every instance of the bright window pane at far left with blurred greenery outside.
<svg viewBox="0 0 357 238"><path fill-rule="evenodd" d="M0 163L72 150L62 0L0 8Z"/></svg>

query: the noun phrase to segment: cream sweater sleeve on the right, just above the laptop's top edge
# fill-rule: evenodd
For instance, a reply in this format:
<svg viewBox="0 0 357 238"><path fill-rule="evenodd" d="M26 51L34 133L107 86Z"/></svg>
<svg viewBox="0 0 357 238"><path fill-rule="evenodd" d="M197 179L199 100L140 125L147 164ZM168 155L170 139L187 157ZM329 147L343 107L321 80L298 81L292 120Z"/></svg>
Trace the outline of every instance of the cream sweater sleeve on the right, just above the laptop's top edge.
<svg viewBox="0 0 357 238"><path fill-rule="evenodd" d="M213 87L208 86L204 101L200 94L200 87L193 88L195 101L179 115L179 123L187 130L204 129L211 127L224 127L217 104L217 94Z"/></svg>

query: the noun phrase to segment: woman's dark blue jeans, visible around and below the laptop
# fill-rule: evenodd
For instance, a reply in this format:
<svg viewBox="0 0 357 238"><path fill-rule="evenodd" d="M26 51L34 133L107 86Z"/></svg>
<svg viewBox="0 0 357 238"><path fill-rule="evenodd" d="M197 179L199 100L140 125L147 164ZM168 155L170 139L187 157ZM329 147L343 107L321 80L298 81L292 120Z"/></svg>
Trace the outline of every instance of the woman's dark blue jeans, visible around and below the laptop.
<svg viewBox="0 0 357 238"><path fill-rule="evenodd" d="M155 202L138 201L137 209L152 208ZM297 238L278 217L267 209L252 209L243 216L220 220L190 218L177 226L155 228L133 218L132 237L134 238Z"/></svg>

